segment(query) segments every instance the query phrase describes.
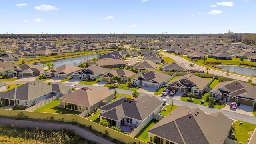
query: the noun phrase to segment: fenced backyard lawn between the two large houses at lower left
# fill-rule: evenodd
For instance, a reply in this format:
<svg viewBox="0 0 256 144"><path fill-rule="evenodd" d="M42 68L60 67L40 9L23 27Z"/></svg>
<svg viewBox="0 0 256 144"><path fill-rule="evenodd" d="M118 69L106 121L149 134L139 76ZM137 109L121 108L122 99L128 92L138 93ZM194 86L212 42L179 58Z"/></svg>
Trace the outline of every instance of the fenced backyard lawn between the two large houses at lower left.
<svg viewBox="0 0 256 144"><path fill-rule="evenodd" d="M60 113L62 112L63 114L80 114L81 112L77 112L74 110L68 110L66 108L59 108L57 107L58 105L60 105L60 100L55 100L53 102L51 102L50 104L47 104L37 110L35 110L35 112L49 112L49 113Z"/></svg>

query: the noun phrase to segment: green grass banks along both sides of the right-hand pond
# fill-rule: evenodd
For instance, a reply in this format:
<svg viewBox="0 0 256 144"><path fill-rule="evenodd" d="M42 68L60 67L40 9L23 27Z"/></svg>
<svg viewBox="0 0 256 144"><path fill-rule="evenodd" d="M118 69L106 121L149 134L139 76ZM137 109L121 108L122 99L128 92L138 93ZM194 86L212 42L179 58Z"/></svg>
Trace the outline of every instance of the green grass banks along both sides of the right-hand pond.
<svg viewBox="0 0 256 144"><path fill-rule="evenodd" d="M214 68L212 66L208 66L206 64L203 64L204 63L204 60L198 60L197 62L194 62L194 61L191 61L190 58L186 57L186 56L181 56L181 58L184 58L188 61L190 61L191 63L194 63L194 64L197 64L197 65L200 65L200 66L204 66L206 68L210 68L213 69L213 70L218 70L218 71L222 71L222 72L227 72L226 70L222 70L220 68ZM214 58L207 58L207 60L205 60L205 62L217 62L217 60L215 60ZM235 58L234 60L218 60L218 62L222 62L222 64L225 64L225 65L237 65L237 66L241 66L239 63L239 61L237 62L237 59ZM248 60L245 60L244 62L241 62L241 63L245 63L245 64L254 64L255 65L255 62L251 62L251 61L248 61ZM208 72L210 72L210 70ZM247 76L247 77L250 77L250 78L255 78L255 76L248 76L246 74L238 74L238 73L234 73L234 72L231 72L229 71L230 74L237 74L237 75L240 75L240 76Z"/></svg>

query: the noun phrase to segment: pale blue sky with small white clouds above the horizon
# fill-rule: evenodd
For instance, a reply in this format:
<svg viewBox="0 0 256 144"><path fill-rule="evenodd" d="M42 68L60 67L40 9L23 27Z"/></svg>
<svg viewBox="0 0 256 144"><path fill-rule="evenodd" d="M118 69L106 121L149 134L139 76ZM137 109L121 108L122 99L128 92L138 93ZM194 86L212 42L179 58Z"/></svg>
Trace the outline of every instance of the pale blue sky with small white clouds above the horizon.
<svg viewBox="0 0 256 144"><path fill-rule="evenodd" d="M256 33L256 0L1 0L0 33Z"/></svg>

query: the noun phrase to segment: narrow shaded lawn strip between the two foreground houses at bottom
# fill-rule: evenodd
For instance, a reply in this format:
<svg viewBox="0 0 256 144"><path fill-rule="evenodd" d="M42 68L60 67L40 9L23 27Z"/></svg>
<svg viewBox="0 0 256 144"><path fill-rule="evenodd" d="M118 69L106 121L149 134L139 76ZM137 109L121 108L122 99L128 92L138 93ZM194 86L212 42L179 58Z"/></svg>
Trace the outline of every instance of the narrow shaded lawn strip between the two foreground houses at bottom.
<svg viewBox="0 0 256 144"><path fill-rule="evenodd" d="M142 140L144 142L148 142L148 130L152 128L157 123L157 120L153 119L151 120L141 131L140 133L135 136L135 138L138 138L139 140Z"/></svg>

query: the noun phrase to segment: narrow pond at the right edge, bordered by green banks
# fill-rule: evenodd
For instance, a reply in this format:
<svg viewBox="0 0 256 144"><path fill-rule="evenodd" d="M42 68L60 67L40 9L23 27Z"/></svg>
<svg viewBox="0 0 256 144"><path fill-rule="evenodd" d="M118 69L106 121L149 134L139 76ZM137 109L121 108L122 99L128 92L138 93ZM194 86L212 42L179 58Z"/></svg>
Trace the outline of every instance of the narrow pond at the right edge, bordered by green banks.
<svg viewBox="0 0 256 144"><path fill-rule="evenodd" d="M256 76L255 68L246 68L242 66L233 66L233 65L217 65L216 67L222 68L222 70L229 70L230 72L235 72L239 74L246 74L248 76Z"/></svg>

